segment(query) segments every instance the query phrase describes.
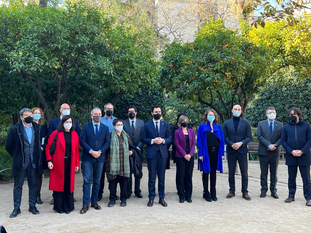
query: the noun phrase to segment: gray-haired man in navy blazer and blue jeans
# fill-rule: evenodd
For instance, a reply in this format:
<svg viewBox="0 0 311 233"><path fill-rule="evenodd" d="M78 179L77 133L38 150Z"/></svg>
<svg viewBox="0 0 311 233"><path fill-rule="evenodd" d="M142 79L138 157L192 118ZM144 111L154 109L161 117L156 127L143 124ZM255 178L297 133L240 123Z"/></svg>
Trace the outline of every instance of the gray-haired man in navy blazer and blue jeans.
<svg viewBox="0 0 311 233"><path fill-rule="evenodd" d="M91 207L101 209L98 201L98 190L100 177L105 162L105 152L110 146L110 134L108 126L100 122L101 110L95 107L91 111L92 121L83 125L79 142L82 151L82 175L83 175L83 207L81 214ZM93 175L93 186L91 195L91 180Z"/></svg>

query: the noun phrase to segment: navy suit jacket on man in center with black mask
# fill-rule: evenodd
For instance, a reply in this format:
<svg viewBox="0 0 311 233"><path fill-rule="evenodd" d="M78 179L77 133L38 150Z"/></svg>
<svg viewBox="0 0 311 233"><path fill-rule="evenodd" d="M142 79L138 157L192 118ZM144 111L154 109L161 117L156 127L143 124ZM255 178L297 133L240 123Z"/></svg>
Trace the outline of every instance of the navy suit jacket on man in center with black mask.
<svg viewBox="0 0 311 233"><path fill-rule="evenodd" d="M171 130L169 128L169 123L166 121L160 121L160 128L159 128L159 136L160 138L163 138L165 141L165 144L151 144L151 139L155 139L156 136L156 127L153 123L153 120L148 121L144 124L144 127L142 128L142 137L141 142L143 144L146 144L146 158L155 158L156 153L158 150L160 150L161 157L162 158L168 158L168 149L166 147L166 144L170 144L172 141L171 136Z"/></svg>

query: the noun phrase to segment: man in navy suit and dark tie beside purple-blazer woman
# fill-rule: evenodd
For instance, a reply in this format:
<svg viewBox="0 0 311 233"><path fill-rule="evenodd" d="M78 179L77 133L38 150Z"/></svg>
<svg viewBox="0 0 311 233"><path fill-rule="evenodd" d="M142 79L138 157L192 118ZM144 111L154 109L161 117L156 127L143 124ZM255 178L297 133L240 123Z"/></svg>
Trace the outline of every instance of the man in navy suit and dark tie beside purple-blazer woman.
<svg viewBox="0 0 311 233"><path fill-rule="evenodd" d="M148 165L148 191L149 201L148 207L153 206L153 200L156 196L156 175L158 176L158 193L159 203L166 207L167 203L164 201L164 183L165 183L165 167L168 158L168 151L166 144L172 141L171 130L169 123L160 121L161 107L155 105L152 107L151 114L152 121L144 124L142 129L141 142L146 144L146 160Z"/></svg>

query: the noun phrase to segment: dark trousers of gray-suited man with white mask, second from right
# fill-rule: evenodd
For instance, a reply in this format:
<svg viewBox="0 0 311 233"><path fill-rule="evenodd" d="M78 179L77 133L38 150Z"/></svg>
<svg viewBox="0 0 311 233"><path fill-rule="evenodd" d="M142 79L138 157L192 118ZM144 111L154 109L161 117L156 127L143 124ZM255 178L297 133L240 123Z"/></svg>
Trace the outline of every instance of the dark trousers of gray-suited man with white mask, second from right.
<svg viewBox="0 0 311 233"><path fill-rule="evenodd" d="M279 166L280 156L273 156L269 151L267 155L259 155L260 163L260 185L261 192L266 193L268 191L268 170L270 169L270 191L276 193L277 183L277 167Z"/></svg>

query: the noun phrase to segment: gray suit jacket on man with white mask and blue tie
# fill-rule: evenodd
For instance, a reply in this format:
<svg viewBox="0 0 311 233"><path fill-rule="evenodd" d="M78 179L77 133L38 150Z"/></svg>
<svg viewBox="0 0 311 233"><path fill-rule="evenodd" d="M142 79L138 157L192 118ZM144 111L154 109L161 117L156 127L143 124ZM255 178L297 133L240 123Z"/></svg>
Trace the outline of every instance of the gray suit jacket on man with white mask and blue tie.
<svg viewBox="0 0 311 233"><path fill-rule="evenodd" d="M273 156L281 155L281 133L283 123L274 120L272 135L270 133L269 122L267 120L259 121L257 126L257 139L259 140L258 154L267 155L269 152ZM275 150L268 150L270 144L276 144Z"/></svg>

